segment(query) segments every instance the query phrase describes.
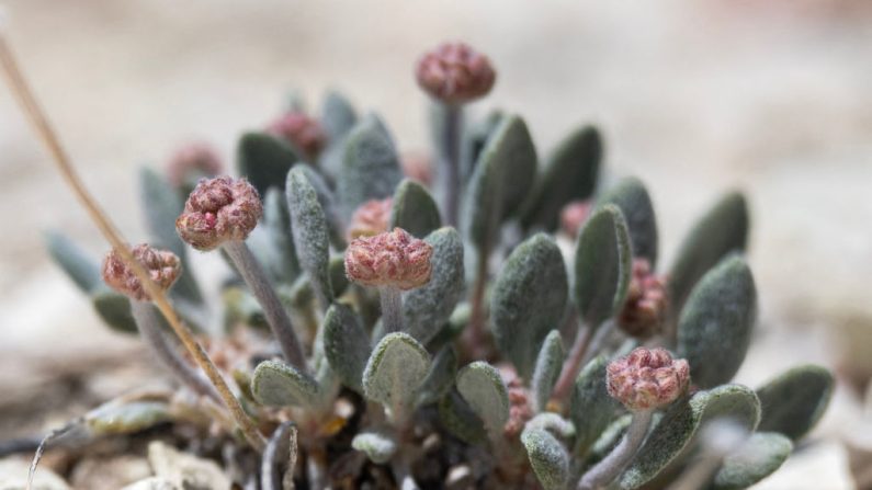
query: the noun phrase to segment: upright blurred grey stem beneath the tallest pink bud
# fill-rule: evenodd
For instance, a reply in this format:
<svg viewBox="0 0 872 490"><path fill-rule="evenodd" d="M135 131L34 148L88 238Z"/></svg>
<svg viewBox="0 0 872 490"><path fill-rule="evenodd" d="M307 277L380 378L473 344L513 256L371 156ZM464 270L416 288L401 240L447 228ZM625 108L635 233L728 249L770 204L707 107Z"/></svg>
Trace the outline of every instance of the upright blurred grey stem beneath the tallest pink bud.
<svg viewBox="0 0 872 490"><path fill-rule="evenodd" d="M445 209L445 224L456 228L460 210L461 190L461 129L463 109L460 105L443 104L441 136L441 179L442 205Z"/></svg>

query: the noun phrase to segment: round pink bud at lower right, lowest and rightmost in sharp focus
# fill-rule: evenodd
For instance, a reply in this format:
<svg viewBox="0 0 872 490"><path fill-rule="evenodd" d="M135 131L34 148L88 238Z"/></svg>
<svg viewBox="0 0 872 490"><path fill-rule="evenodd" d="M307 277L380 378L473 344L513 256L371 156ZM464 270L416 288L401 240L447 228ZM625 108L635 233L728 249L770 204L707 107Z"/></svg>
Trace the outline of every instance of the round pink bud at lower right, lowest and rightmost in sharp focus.
<svg viewBox="0 0 872 490"><path fill-rule="evenodd" d="M607 367L609 395L631 410L652 410L675 401L690 381L686 360L672 360L665 349L638 347Z"/></svg>

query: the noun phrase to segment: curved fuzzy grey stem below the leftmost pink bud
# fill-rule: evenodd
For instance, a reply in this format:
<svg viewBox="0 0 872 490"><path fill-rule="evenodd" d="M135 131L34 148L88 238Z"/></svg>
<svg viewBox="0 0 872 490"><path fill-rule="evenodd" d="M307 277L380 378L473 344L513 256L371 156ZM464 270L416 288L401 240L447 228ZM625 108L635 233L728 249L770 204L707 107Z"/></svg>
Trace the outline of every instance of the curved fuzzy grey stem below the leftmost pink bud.
<svg viewBox="0 0 872 490"><path fill-rule="evenodd" d="M146 345L151 350L155 356L160 360L165 367L167 367L182 385L186 385L194 391L212 397L220 401L220 397L212 386L200 373L191 368L191 365L179 355L175 346L172 345L170 340L163 333L158 323L158 318L155 310L151 309L150 301L131 301L131 312L133 314L136 326L139 328Z"/></svg>

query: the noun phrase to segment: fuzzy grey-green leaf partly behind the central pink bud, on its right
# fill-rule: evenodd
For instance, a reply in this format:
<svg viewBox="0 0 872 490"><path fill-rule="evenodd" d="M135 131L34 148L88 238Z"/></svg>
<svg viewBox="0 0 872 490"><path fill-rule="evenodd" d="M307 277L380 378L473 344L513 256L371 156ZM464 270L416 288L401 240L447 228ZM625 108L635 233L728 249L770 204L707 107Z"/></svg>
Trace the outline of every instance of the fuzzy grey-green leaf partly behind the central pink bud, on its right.
<svg viewBox="0 0 872 490"><path fill-rule="evenodd" d="M427 345L451 317L464 293L463 240L440 228L424 241L433 247L430 282L403 295L405 332Z"/></svg>

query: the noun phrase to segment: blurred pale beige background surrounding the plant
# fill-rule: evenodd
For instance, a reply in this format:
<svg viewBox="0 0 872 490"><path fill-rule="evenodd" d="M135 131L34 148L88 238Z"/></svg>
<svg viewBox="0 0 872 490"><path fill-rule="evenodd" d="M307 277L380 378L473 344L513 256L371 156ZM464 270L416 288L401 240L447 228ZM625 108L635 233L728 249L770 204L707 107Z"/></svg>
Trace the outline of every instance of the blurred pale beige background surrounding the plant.
<svg viewBox="0 0 872 490"><path fill-rule="evenodd" d="M426 151L412 66L449 39L498 70L472 110L522 114L540 153L576 125L600 125L609 171L648 184L666 264L706 206L743 189L761 308L737 380L757 386L800 362L841 380L807 447L760 488L872 488L869 0L3 3L25 75L133 241L144 237L138 166L163 167L191 139L231 161L241 132L276 116L291 89L313 110L342 90L384 115L401 150ZM105 246L5 87L0 216L3 438L81 413L148 366L49 263L47 228L94 254ZM79 396L58 392L70 379Z"/></svg>

